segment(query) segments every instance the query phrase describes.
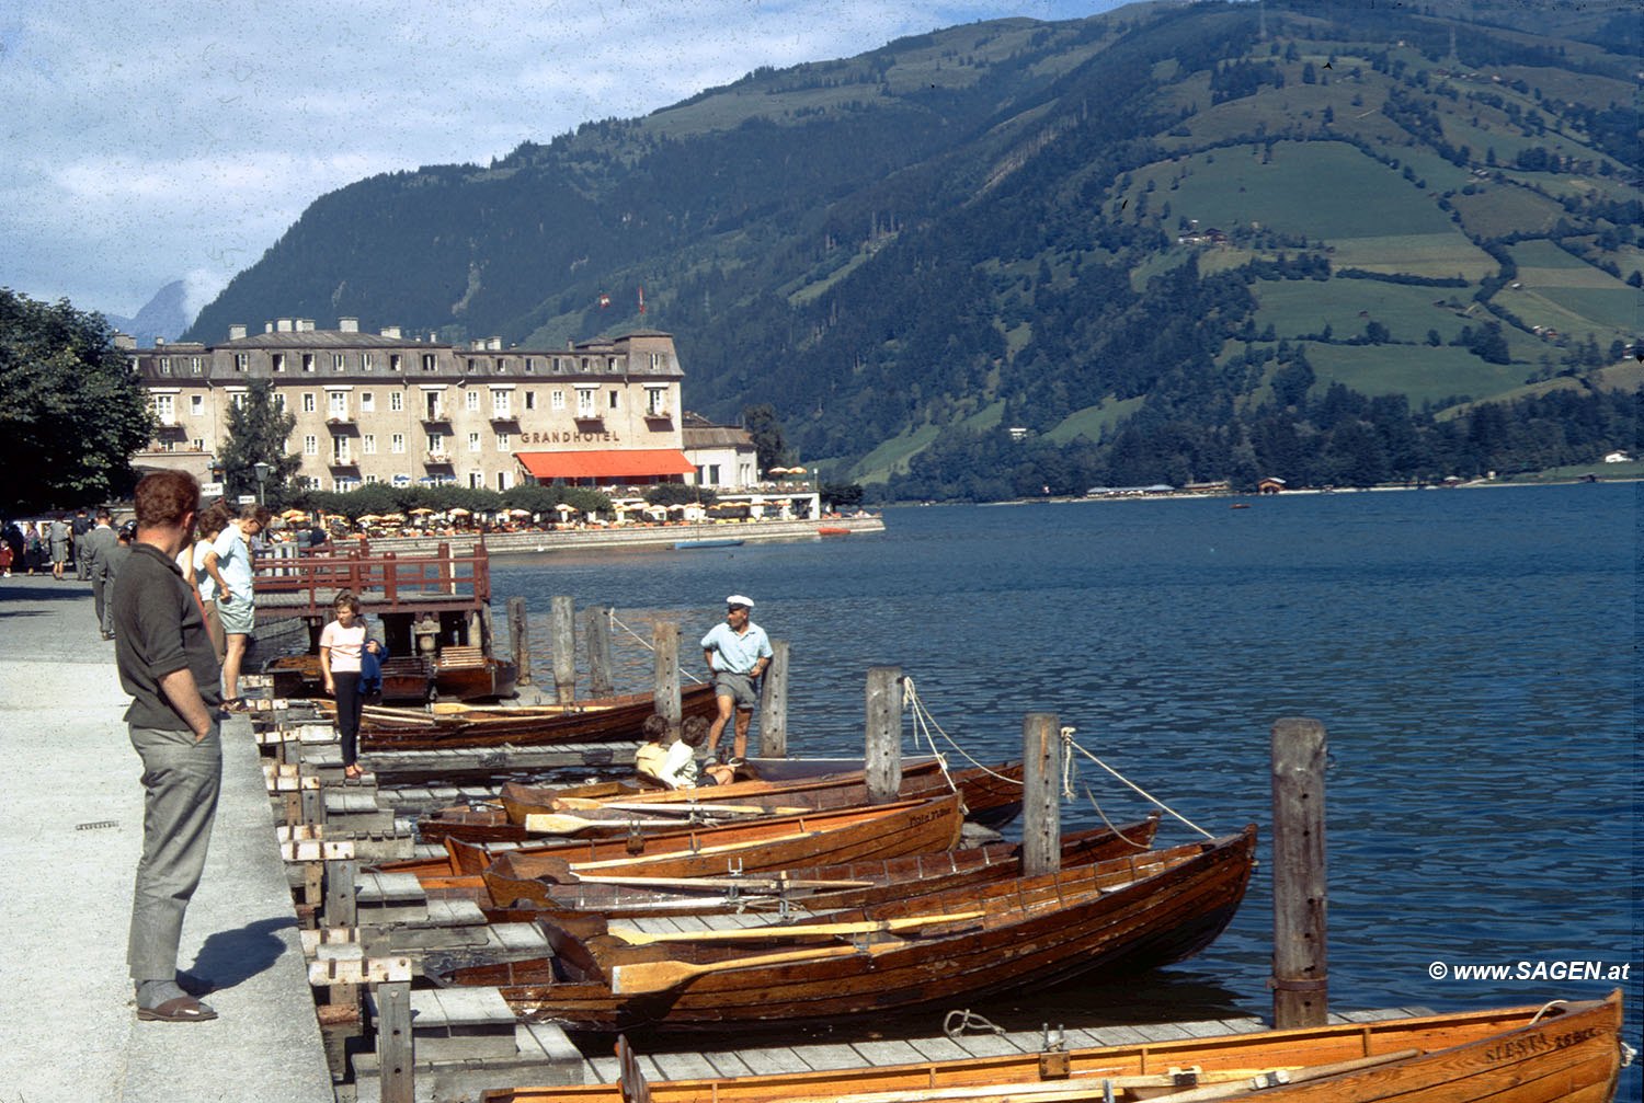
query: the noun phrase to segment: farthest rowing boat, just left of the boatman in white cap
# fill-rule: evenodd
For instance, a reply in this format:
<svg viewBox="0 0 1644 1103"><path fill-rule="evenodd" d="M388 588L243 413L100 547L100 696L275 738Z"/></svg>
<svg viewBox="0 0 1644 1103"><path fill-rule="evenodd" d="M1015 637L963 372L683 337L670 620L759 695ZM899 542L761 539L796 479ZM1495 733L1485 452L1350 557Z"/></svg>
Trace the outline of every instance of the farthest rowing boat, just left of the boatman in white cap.
<svg viewBox="0 0 1644 1103"><path fill-rule="evenodd" d="M712 717L712 685L690 685L679 695L681 715ZM496 708L496 715L439 715L409 710L367 712L360 723L363 751L427 751L449 746L541 746L547 743L603 743L640 740L640 725L656 712L651 694L625 694L579 700L554 712ZM503 715L520 713L520 715Z"/></svg>

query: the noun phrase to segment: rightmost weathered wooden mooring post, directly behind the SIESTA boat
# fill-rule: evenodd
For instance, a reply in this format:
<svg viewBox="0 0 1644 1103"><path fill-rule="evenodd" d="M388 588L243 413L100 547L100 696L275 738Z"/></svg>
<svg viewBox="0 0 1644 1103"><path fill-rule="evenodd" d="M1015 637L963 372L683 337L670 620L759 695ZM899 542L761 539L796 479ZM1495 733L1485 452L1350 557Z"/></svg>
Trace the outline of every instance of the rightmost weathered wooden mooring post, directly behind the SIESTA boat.
<svg viewBox="0 0 1644 1103"><path fill-rule="evenodd" d="M1304 717L1272 723L1272 1022L1323 1026L1325 725Z"/></svg>

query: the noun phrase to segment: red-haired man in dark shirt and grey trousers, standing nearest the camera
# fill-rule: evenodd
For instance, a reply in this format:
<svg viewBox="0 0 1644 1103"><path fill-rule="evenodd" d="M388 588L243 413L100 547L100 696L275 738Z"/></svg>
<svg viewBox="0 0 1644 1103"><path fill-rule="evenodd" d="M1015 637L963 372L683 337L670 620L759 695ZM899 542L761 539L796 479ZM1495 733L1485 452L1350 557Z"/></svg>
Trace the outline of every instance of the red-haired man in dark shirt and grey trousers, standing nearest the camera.
<svg viewBox="0 0 1644 1103"><path fill-rule="evenodd" d="M136 1018L204 1022L217 1013L179 986L182 916L206 870L222 787L217 656L176 556L201 488L187 472L136 485L136 544L113 585L113 646L132 746L143 759L143 856L132 893L127 963Z"/></svg>

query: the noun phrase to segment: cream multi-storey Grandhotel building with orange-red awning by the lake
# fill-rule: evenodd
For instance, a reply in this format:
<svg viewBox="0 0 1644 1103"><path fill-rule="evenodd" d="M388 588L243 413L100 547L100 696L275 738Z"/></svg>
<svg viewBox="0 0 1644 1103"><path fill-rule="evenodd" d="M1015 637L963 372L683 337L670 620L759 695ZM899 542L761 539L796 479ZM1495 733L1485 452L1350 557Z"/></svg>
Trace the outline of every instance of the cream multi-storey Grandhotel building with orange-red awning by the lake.
<svg viewBox="0 0 1644 1103"><path fill-rule="evenodd" d="M528 480L631 487L755 483L746 432L681 409L679 355L669 334L643 330L566 348L470 347L334 330L279 319L219 345L118 344L143 380L159 436L135 462L184 467L210 482L229 409L253 380L296 418L286 449L307 487L455 483L508 490ZM689 421L689 424L687 424Z"/></svg>

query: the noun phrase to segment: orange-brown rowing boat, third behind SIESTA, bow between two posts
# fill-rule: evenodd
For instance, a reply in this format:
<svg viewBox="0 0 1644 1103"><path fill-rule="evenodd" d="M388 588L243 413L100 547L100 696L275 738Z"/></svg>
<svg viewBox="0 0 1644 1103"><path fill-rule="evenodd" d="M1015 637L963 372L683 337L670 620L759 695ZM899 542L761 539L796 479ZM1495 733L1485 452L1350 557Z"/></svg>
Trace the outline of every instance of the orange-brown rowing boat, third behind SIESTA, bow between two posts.
<svg viewBox="0 0 1644 1103"><path fill-rule="evenodd" d="M868 809L779 815L725 827L692 827L625 838L567 840L506 851L521 878L574 881L579 873L717 876L723 873L875 861L935 853L958 842L958 796ZM390 861L380 873L413 873L439 889L483 888L480 873L498 855L446 840L446 858Z"/></svg>

